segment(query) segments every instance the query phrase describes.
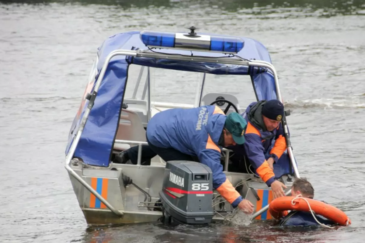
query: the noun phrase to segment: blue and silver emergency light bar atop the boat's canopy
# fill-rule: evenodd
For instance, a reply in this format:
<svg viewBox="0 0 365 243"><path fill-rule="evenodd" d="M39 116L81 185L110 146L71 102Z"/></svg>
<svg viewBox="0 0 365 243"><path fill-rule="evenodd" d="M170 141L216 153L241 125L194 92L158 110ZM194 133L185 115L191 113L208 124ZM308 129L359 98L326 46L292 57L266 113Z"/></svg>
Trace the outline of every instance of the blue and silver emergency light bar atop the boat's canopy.
<svg viewBox="0 0 365 243"><path fill-rule="evenodd" d="M140 38L148 47L198 50L237 54L242 50L244 41L238 37L189 35L184 33L142 31Z"/></svg>

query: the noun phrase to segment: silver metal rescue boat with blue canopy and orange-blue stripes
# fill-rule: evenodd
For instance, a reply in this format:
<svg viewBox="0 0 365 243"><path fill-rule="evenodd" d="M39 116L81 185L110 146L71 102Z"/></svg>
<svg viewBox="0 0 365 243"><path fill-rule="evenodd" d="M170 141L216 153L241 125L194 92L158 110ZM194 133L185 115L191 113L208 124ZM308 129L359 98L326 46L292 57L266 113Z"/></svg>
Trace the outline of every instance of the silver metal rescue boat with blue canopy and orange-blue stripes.
<svg viewBox="0 0 365 243"><path fill-rule="evenodd" d="M147 124L160 111L215 104L226 114L242 113L255 100L282 101L276 69L262 43L247 37L197 33L195 27L189 29L190 32L118 33L98 48L65 150L65 168L88 225L155 222L161 217L200 224L223 221L234 211L212 189L207 166L195 162L181 166L158 156L149 165L141 165L141 147L147 145ZM196 85L190 82L191 75L199 77L194 79ZM153 78L160 83L153 83ZM165 95L164 99L154 100L154 85L164 89L167 79L176 87L196 87L195 99L177 103L170 99L171 95ZM224 85L230 79L239 87ZM245 97L242 92L246 90L251 90L254 100L242 101ZM164 92L158 91L157 96L163 97ZM288 132L289 114L285 111L282 119L287 150L274 164L274 173L290 189L299 171ZM139 148L136 165L113 162L116 154L133 146ZM244 173L230 171L230 153L227 149L222 151L228 180L243 198L254 204L254 219L272 219L268 211L273 199L271 189L250 167ZM172 197L161 196L166 191L165 185L179 180L171 177L173 171L199 175L196 178L203 180L211 192L199 199L208 202L206 207L196 205L186 211L197 197L196 193L189 193L190 177L180 178L175 183L179 189L170 192L174 197L183 195L182 198L171 201ZM184 179L185 183L181 183ZM205 214L201 214L203 209Z"/></svg>

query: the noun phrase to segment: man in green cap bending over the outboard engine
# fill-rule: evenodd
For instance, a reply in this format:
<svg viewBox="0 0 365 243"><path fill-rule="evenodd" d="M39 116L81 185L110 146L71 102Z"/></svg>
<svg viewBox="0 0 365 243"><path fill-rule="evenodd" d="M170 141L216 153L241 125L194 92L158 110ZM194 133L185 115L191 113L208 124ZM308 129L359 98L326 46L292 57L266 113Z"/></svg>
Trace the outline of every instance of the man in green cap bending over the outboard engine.
<svg viewBox="0 0 365 243"><path fill-rule="evenodd" d="M192 157L197 157L211 168L213 188L234 208L248 214L253 212L253 204L235 190L220 163L222 147L245 142L246 124L238 113L226 116L215 105L168 109L149 121L147 143L164 161L191 161Z"/></svg>

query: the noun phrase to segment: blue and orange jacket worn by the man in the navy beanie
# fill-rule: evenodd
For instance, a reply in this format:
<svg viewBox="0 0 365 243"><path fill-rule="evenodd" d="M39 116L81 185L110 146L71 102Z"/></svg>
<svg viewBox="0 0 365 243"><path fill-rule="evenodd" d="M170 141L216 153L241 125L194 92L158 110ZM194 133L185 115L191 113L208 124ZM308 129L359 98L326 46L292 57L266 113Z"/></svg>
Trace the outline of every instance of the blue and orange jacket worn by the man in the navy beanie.
<svg viewBox="0 0 365 243"><path fill-rule="evenodd" d="M265 154L270 153L270 157L275 162L283 155L287 149L285 142L283 125L279 126L273 131L267 131L264 121L262 120L262 106L266 101L258 101L251 103L242 116L247 121L247 128L245 131L246 142L243 144L244 155L249 159L251 165L256 170L261 179L270 186L275 180L275 174L269 167L269 163L265 159ZM269 150L273 140L275 143L273 148Z"/></svg>

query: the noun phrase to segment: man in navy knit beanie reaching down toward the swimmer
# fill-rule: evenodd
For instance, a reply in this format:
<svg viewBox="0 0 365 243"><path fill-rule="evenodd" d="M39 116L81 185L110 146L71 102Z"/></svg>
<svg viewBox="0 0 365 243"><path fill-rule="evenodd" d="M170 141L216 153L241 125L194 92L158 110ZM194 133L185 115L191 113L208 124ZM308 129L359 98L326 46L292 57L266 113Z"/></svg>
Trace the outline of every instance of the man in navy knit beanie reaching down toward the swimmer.
<svg viewBox="0 0 365 243"><path fill-rule="evenodd" d="M246 162L249 162L266 185L271 186L274 198L285 196L283 188L287 186L276 180L273 171L273 164L287 149L281 123L284 105L278 100L253 102L242 116L247 121L244 134L246 142L243 145L228 147L234 152L231 160L239 165L233 168L233 171L239 167L246 167ZM273 142L274 146L269 150ZM241 172L241 168L235 172Z"/></svg>

